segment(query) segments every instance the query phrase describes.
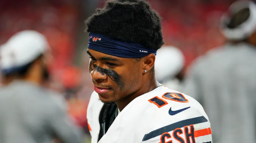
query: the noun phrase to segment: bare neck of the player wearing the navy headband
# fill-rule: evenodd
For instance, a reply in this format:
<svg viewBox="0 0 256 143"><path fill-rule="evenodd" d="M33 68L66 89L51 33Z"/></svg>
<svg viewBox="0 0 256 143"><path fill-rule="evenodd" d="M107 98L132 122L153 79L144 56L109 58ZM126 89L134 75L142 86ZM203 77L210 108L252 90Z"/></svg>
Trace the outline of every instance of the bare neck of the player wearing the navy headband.
<svg viewBox="0 0 256 143"><path fill-rule="evenodd" d="M147 73L147 74L151 74L151 73ZM134 92L131 95L128 95L127 97L119 101L116 101L117 107L120 111L122 111L135 98L145 93L151 92L153 89L159 86L159 83L157 82L155 76L152 77L151 75L147 75L147 76L145 75L144 78L145 80L143 79L144 82L142 83L142 87L138 91Z"/></svg>

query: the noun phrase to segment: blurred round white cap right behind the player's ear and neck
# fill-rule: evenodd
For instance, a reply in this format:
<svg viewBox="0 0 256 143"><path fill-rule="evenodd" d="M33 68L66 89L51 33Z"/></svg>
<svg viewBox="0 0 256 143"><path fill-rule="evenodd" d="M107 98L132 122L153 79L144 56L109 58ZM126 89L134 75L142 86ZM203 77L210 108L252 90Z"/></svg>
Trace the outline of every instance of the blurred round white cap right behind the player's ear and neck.
<svg viewBox="0 0 256 143"><path fill-rule="evenodd" d="M158 81L174 78L184 67L185 59L182 51L173 46L163 46L157 51L155 60L155 76Z"/></svg>

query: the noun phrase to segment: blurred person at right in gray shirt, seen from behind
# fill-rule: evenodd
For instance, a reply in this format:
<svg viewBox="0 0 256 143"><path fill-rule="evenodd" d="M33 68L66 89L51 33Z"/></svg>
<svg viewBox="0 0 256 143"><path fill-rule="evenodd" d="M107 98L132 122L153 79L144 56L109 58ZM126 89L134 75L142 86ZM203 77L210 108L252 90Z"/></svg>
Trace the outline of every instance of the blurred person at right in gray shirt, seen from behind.
<svg viewBox="0 0 256 143"><path fill-rule="evenodd" d="M220 21L226 44L199 57L183 93L211 120L214 143L256 142L256 5L236 1Z"/></svg>

